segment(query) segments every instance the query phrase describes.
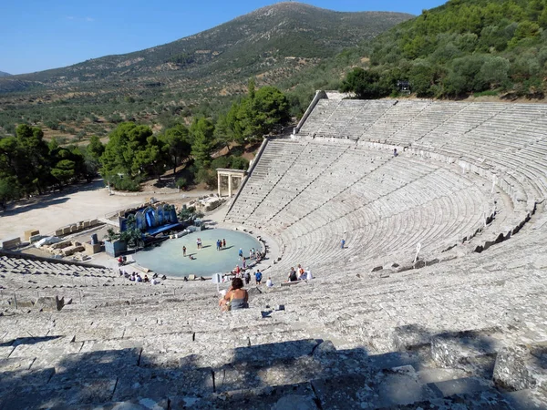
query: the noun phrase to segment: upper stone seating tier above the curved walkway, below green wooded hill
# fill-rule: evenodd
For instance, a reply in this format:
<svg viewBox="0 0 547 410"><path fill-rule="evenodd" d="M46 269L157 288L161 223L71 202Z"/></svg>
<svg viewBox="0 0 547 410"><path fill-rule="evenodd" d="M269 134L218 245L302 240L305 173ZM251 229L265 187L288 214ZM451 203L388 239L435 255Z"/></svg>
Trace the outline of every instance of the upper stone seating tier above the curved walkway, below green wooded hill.
<svg viewBox="0 0 547 410"><path fill-rule="evenodd" d="M358 106L363 110L376 106L382 114L372 125L366 115L346 115L348 126L342 138L379 149L404 147L408 154L455 163L466 172L478 174L483 190L489 185L484 178L491 181L493 175L497 177L498 187L512 203L505 200L503 192L498 202L512 208L512 213L497 212L490 237L480 235L485 243L518 231L530 218L534 203L545 198L545 105L395 100L389 105L386 101L356 100L351 104L355 110ZM334 107L325 112L325 118L331 118ZM355 136L346 136L348 129L353 129Z"/></svg>

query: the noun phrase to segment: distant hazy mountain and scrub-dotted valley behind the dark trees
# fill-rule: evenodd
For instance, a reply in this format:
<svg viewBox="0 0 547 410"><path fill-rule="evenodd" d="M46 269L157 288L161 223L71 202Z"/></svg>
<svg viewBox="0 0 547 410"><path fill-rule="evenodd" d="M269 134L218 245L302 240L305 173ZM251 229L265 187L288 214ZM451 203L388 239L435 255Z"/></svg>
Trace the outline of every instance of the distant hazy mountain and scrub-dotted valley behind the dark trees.
<svg viewBox="0 0 547 410"><path fill-rule="evenodd" d="M249 78L259 86L280 85L411 17L278 3L166 45L2 77L0 135L15 135L15 126L26 123L42 128L46 138L77 142L106 136L122 121L159 131L189 124L196 115L214 117L245 93ZM326 84L325 77L319 84L310 78L293 90L294 112Z"/></svg>

